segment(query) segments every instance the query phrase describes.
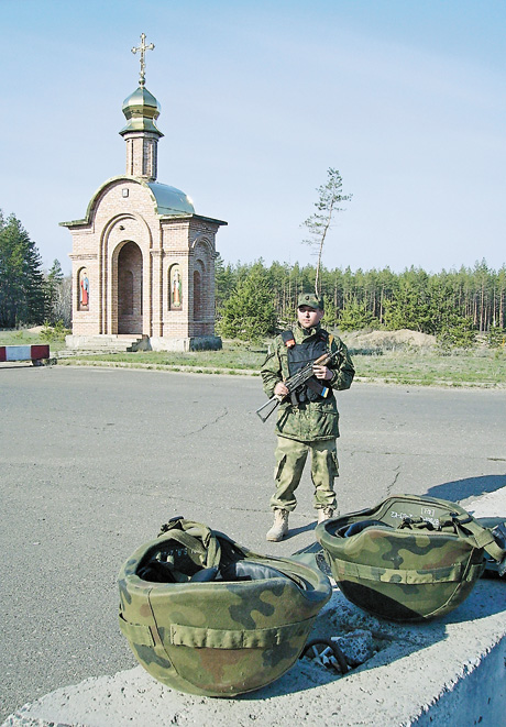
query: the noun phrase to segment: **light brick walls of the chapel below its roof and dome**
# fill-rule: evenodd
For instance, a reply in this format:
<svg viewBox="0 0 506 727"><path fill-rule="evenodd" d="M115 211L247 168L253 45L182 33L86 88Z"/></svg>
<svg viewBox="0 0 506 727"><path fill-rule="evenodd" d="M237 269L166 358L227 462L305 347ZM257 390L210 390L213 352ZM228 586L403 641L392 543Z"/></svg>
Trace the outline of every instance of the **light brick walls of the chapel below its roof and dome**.
<svg viewBox="0 0 506 727"><path fill-rule="evenodd" d="M70 227L73 333L212 335L218 228L196 216L161 218L148 187L128 177L110 180L92 201L89 223ZM176 264L180 310L169 305L169 275ZM84 266L90 284L88 311L79 311L77 305ZM130 294L133 300L128 304Z"/></svg>

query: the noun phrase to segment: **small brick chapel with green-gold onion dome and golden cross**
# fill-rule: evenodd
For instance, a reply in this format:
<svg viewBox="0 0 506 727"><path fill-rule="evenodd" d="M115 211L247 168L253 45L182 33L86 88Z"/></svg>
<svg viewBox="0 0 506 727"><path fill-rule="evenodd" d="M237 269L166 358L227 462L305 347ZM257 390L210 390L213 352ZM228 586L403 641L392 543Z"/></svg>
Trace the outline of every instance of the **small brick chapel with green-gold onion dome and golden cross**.
<svg viewBox="0 0 506 727"><path fill-rule="evenodd" d="M222 220L197 214L180 189L157 181L161 106L145 87L123 102L127 168L91 197L81 220L62 222L73 238L69 348L190 351L221 348L215 335L216 234ZM135 349L135 344L133 346Z"/></svg>

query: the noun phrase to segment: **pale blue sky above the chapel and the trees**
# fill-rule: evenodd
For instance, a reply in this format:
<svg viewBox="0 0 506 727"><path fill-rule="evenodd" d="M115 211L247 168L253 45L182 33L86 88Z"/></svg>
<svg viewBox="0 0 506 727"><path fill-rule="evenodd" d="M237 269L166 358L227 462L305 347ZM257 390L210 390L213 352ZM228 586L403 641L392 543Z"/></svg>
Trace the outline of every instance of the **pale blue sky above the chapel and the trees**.
<svg viewBox="0 0 506 727"><path fill-rule="evenodd" d="M227 262L315 262L328 167L353 199L328 267L506 262L504 0L0 0L0 209L44 264L125 166L121 106L158 99L158 180L227 220Z"/></svg>

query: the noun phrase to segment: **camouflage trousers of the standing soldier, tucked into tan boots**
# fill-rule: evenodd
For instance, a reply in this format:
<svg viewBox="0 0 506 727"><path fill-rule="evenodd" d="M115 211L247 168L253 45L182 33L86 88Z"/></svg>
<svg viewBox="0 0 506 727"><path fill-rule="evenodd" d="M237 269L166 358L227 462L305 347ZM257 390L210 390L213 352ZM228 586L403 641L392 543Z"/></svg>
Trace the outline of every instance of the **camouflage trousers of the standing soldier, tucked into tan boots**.
<svg viewBox="0 0 506 727"><path fill-rule="evenodd" d="M298 442L286 437L277 438L274 482L276 492L271 497L271 507L295 509L297 489L307 456L311 453L311 480L315 485L314 506L336 509L334 477L339 476L338 452L334 439L318 442Z"/></svg>

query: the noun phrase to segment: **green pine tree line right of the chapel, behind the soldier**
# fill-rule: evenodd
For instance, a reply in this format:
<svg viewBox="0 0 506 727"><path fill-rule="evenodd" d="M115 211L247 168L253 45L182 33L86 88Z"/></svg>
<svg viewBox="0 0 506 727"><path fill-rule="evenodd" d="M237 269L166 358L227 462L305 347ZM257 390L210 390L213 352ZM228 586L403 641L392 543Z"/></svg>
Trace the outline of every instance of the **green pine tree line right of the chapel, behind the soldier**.
<svg viewBox="0 0 506 727"><path fill-rule="evenodd" d="M270 335L294 320L297 296L315 288L312 265L260 260L217 260L217 320L222 335ZM471 341L477 332L506 329L506 265L492 269L485 260L474 267L427 273L410 267L351 271L321 267L319 289L326 304L324 323L342 331L364 328L408 328ZM454 341L452 341L454 339Z"/></svg>

